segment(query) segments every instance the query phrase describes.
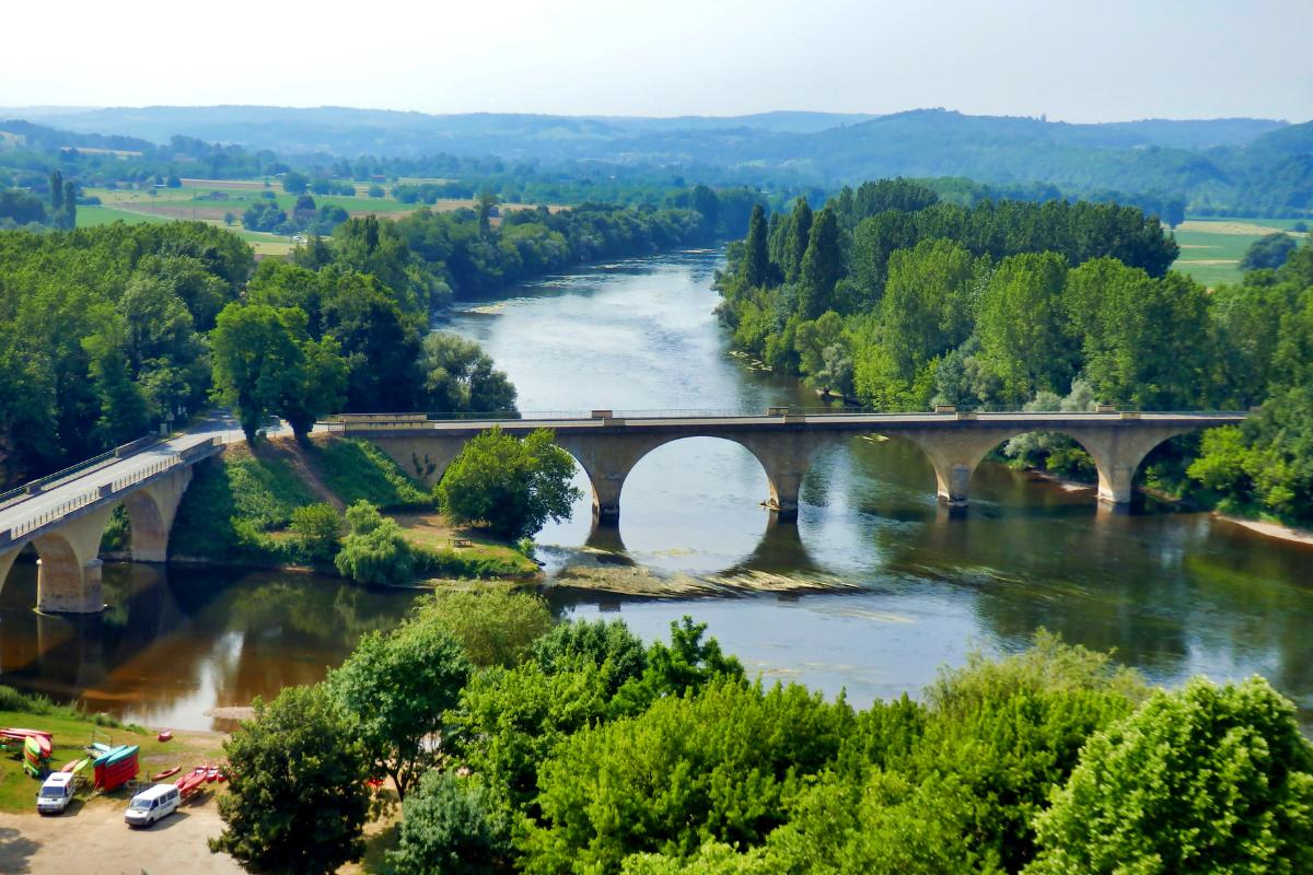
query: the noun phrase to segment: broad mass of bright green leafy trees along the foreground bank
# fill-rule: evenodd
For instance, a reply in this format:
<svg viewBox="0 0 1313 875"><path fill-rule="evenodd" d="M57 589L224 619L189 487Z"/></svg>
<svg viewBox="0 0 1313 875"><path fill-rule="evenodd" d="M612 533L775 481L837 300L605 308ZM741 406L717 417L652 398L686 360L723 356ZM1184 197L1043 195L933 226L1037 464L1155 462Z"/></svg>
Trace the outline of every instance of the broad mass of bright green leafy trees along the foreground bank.
<svg viewBox="0 0 1313 875"><path fill-rule="evenodd" d="M751 682L688 617L645 647L624 621L551 624L533 596L439 593L225 748L211 849L251 871L336 871L395 802L398 875L1313 865L1291 702L1258 677L1153 689L1043 630L859 710Z"/></svg>

